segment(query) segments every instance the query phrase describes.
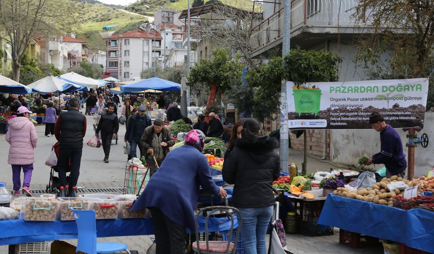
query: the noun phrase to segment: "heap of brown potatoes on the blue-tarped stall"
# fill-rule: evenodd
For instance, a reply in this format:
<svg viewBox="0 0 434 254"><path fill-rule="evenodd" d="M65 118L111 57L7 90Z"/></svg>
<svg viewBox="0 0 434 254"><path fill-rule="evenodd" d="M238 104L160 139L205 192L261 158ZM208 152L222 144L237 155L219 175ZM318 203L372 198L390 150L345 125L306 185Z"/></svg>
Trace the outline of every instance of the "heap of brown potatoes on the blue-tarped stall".
<svg viewBox="0 0 434 254"><path fill-rule="evenodd" d="M417 185L416 180L409 181L403 179L402 177L398 177L397 175L394 175L390 179L384 177L381 182L376 182L370 188L359 188L357 190L349 190L344 187L339 187L333 192L333 194L345 198L357 199L366 202L373 202L375 204L381 204L386 206L393 206L393 198L395 196L402 196L404 194L404 191L402 191L401 193L401 190L395 189L393 192L390 192L389 188L387 187L387 184L391 181L394 182L403 181L409 187L413 187ZM421 189L419 188L417 196L421 196L420 192Z"/></svg>

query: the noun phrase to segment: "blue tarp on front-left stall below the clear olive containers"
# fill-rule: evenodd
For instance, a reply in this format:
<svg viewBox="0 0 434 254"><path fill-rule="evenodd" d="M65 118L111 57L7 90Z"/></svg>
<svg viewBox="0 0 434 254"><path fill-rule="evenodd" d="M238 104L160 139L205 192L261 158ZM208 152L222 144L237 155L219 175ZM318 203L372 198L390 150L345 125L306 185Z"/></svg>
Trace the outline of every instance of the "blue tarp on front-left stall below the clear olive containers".
<svg viewBox="0 0 434 254"><path fill-rule="evenodd" d="M204 218L199 218L199 231L205 231ZM209 231L229 230L230 220L210 218ZM235 228L238 227L235 219ZM77 225L75 221L0 221L0 245L19 244L25 242L52 241L61 239L76 239ZM98 237L152 235L152 219L109 219L96 220Z"/></svg>

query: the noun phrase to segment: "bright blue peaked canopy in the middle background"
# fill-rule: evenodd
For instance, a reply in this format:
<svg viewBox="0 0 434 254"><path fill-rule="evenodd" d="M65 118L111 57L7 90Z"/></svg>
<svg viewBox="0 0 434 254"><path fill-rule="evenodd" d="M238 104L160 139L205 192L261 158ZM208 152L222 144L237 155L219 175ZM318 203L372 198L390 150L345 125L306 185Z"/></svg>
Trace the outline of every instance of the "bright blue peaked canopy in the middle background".
<svg viewBox="0 0 434 254"><path fill-rule="evenodd" d="M121 91L124 93L140 92L147 89L155 89L160 91L181 91L181 84L160 79L154 76L150 79L137 81L135 83L121 87Z"/></svg>

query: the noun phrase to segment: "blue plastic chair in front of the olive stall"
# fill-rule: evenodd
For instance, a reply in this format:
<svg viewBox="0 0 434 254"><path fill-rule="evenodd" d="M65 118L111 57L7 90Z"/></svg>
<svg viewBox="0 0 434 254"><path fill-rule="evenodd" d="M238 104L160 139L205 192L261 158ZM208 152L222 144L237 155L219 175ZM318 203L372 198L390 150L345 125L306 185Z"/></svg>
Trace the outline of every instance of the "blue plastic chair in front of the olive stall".
<svg viewBox="0 0 434 254"><path fill-rule="evenodd" d="M76 252L83 251L89 254L97 253L113 253L127 249L128 245L117 242L96 242L96 219L95 211L93 210L75 210L74 217L78 228L78 244Z"/></svg>

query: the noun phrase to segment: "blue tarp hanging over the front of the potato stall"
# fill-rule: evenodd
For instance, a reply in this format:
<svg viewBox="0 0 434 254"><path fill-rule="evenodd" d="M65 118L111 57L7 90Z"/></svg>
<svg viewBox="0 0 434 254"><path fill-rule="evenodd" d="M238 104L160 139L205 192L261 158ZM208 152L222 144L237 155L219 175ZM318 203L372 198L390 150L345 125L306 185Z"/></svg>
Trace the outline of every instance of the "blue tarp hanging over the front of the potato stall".
<svg viewBox="0 0 434 254"><path fill-rule="evenodd" d="M424 209L405 211L329 194L317 224L434 252L434 212Z"/></svg>

